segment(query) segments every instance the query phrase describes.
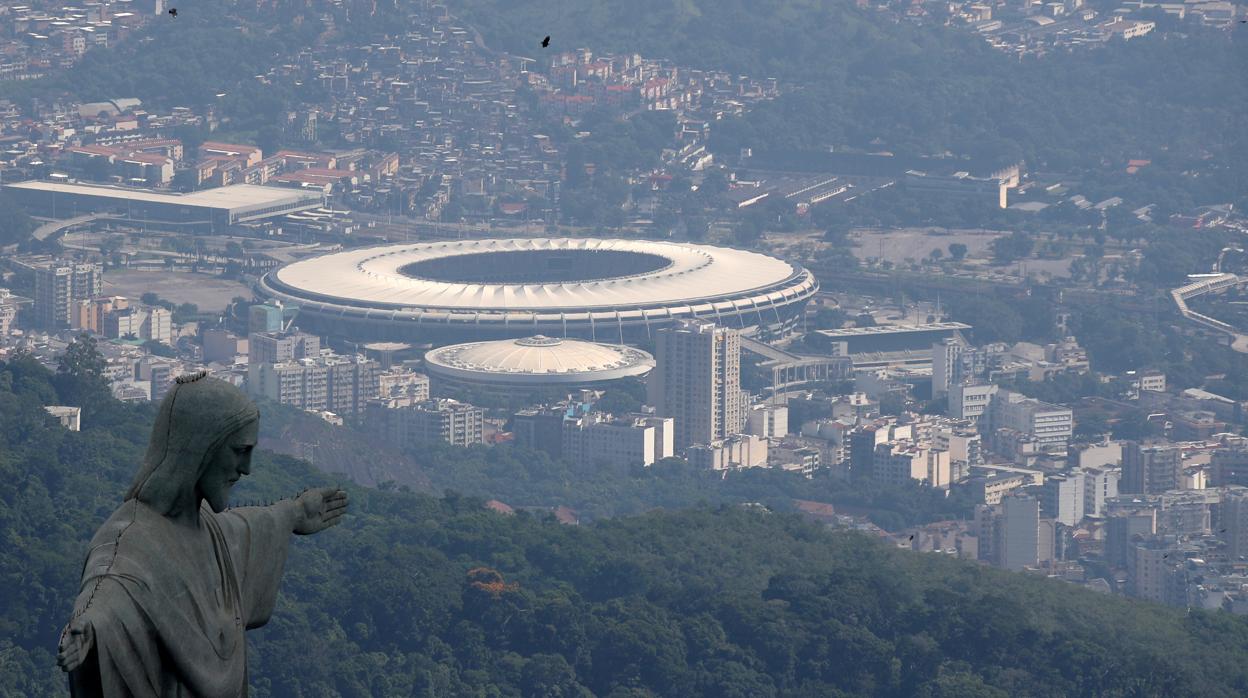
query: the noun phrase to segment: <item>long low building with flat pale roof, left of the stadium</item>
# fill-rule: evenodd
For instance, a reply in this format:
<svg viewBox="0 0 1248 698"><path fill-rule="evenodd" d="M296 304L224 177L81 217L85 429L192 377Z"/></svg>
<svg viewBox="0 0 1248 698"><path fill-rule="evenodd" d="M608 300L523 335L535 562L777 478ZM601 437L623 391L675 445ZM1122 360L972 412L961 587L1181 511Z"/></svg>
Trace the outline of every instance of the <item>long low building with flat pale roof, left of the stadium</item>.
<svg viewBox="0 0 1248 698"><path fill-rule="evenodd" d="M317 209L319 192L256 185L231 185L192 194L102 185L26 181L5 192L34 216L74 219L109 214L137 224L187 232L225 231L230 226Z"/></svg>

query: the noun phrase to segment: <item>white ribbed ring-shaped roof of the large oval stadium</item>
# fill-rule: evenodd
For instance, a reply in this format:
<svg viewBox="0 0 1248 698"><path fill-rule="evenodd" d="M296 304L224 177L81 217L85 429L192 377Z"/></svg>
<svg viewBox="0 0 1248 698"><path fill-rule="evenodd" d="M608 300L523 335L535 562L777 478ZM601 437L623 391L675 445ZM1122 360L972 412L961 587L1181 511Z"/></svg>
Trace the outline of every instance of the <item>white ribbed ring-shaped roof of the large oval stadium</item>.
<svg viewBox="0 0 1248 698"><path fill-rule="evenodd" d="M572 281L472 282L406 275L459 255L572 251L633 252L663 257L658 268ZM653 266L653 265L651 265ZM600 238L463 240L387 245L302 260L273 272L275 286L295 297L388 308L563 310L644 307L774 291L804 273L784 260L728 247Z"/></svg>

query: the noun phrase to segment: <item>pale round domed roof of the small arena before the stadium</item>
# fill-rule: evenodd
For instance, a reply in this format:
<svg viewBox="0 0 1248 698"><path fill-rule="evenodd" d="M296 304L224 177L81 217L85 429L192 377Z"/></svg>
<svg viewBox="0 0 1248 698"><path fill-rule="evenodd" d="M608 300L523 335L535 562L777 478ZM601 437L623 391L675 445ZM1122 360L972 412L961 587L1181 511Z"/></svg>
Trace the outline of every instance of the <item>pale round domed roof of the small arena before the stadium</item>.
<svg viewBox="0 0 1248 698"><path fill-rule="evenodd" d="M633 347L542 335L441 347L424 361L436 376L527 385L609 381L654 368L654 357Z"/></svg>

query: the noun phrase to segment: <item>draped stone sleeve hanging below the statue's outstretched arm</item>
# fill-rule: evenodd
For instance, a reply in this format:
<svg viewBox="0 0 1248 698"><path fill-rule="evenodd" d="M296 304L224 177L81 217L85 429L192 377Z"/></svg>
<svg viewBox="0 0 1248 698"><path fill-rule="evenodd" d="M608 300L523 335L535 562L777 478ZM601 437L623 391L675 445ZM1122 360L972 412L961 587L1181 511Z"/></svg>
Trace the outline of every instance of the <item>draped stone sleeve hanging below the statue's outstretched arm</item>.
<svg viewBox="0 0 1248 698"><path fill-rule="evenodd" d="M213 517L238 573L247 629L267 623L277 602L291 541L291 522L281 507L245 507Z"/></svg>

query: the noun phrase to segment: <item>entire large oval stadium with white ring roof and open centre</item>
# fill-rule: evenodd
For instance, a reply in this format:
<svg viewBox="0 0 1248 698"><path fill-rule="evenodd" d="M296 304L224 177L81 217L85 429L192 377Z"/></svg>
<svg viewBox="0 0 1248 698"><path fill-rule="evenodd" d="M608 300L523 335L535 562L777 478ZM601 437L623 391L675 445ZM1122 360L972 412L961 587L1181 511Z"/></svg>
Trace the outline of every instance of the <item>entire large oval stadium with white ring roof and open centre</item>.
<svg viewBox="0 0 1248 698"><path fill-rule="evenodd" d="M300 327L353 341L624 343L691 317L785 333L819 282L801 266L729 247L514 238L334 252L272 271L258 290L300 306Z"/></svg>

